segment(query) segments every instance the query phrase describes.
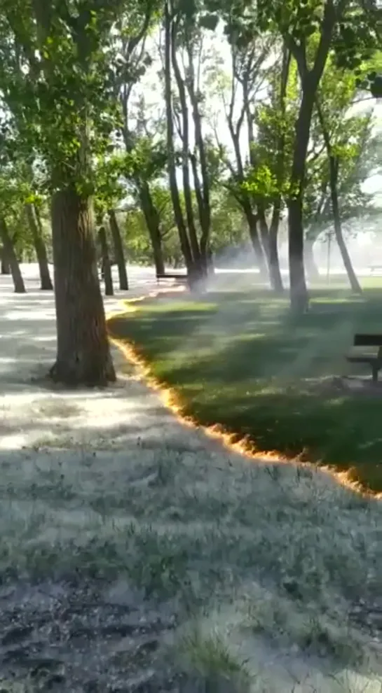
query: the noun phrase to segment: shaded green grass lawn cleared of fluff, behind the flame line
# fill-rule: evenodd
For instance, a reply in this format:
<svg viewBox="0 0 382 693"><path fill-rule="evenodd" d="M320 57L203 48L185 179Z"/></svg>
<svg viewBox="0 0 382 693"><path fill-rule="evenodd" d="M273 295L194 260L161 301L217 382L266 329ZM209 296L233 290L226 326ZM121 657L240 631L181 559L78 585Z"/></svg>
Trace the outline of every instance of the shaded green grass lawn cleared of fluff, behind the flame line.
<svg viewBox="0 0 382 693"><path fill-rule="evenodd" d="M370 282L371 283L371 282ZM135 344L153 374L176 389L184 414L280 451L351 470L382 491L382 396L337 391L333 376L367 374L346 362L355 331L382 332L382 291L313 292L296 320L265 290L150 300L114 318L111 334Z"/></svg>

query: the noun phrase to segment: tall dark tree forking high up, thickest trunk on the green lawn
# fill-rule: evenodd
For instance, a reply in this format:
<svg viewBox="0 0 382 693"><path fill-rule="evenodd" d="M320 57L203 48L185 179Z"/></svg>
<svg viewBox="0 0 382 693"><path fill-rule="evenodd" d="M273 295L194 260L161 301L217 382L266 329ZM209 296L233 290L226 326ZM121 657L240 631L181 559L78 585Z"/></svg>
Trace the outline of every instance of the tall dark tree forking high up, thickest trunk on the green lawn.
<svg viewBox="0 0 382 693"><path fill-rule="evenodd" d="M222 4L225 8L226 3ZM209 8L216 11L217 3L210 2ZM303 265L303 195L315 97L329 51L334 48L340 60L354 67L364 59L375 29L362 4L358 6L350 0L303 3L259 0L256 7L243 0L235 3L231 10L230 25L234 24L239 35L257 36L259 32L277 30L299 70L301 102L296 118L287 206L291 307L301 313L308 309ZM357 41L362 43L360 48Z"/></svg>

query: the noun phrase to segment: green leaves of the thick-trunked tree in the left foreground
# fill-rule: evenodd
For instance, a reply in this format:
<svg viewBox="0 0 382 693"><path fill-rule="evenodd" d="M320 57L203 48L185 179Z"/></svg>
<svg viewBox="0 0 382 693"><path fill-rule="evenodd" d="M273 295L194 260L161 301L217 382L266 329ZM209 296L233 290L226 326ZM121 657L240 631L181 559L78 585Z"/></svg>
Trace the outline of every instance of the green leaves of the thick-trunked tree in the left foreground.
<svg viewBox="0 0 382 693"><path fill-rule="evenodd" d="M107 153L120 122L111 29L127 9L123 0L2 5L0 88L28 150L44 162L50 190L94 189L91 161Z"/></svg>

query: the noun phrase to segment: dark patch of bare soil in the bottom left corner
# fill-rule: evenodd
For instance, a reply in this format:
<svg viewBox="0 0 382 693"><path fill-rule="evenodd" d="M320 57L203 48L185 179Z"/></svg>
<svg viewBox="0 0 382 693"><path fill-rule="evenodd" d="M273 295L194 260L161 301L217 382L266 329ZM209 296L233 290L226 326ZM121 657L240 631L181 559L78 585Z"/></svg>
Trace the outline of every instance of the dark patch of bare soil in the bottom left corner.
<svg viewBox="0 0 382 693"><path fill-rule="evenodd" d="M127 582L0 588L0 690L152 693L179 690L161 657L177 624Z"/></svg>

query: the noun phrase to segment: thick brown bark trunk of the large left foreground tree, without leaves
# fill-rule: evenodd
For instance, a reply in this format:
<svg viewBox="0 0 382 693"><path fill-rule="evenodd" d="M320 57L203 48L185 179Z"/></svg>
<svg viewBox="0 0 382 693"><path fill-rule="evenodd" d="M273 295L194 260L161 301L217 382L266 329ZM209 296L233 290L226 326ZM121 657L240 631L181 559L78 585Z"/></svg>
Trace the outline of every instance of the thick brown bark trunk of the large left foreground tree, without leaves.
<svg viewBox="0 0 382 693"><path fill-rule="evenodd" d="M111 360L90 202L73 188L52 198L57 360L50 370L67 386L106 386Z"/></svg>

